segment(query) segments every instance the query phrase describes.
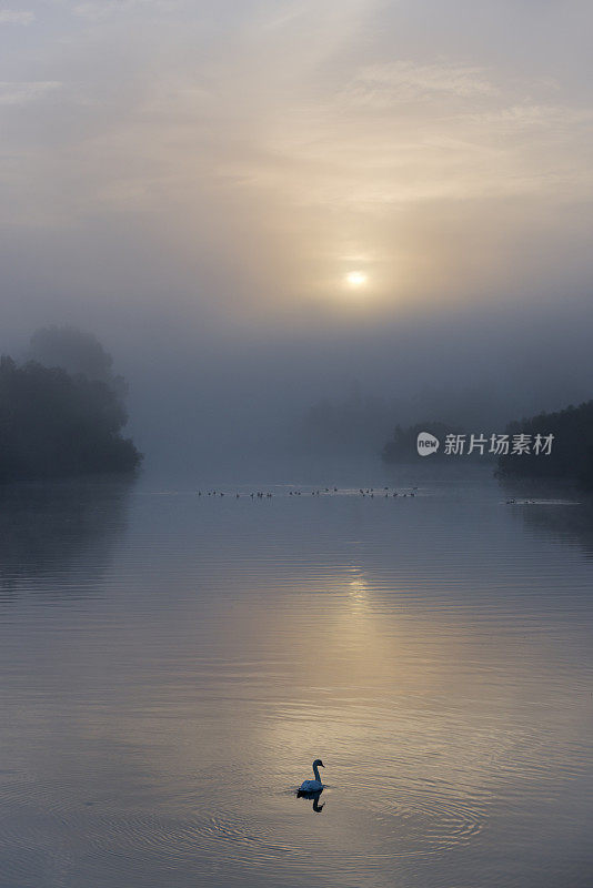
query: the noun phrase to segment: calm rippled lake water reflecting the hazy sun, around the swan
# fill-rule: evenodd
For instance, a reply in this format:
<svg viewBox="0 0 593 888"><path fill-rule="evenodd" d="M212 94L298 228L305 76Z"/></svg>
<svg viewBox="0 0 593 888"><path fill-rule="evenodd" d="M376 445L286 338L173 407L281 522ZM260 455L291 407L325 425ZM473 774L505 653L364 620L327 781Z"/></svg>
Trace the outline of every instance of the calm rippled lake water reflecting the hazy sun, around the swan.
<svg viewBox="0 0 593 888"><path fill-rule="evenodd" d="M1 888L593 885L591 503L325 483L1 492Z"/></svg>

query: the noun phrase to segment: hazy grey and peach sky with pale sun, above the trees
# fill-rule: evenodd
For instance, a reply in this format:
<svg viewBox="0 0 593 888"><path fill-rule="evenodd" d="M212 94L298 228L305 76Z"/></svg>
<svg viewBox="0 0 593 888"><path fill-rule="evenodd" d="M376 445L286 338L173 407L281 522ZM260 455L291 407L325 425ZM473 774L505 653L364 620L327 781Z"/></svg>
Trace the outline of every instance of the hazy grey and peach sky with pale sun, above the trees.
<svg viewBox="0 0 593 888"><path fill-rule="evenodd" d="M91 330L173 452L353 385L509 418L591 396L592 26L575 0L1 3L0 346Z"/></svg>

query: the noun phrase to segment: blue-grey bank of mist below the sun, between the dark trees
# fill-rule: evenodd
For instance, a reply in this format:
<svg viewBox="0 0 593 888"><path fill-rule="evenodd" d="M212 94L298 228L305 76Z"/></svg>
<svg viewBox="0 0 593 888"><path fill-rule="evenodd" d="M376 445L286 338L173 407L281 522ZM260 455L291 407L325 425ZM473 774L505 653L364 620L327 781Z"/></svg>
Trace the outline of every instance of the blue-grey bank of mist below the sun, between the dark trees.
<svg viewBox="0 0 593 888"><path fill-rule="evenodd" d="M371 464L398 423L503 432L513 418L587 400L593 385L584 303L562 316L435 311L382 329L219 323L207 335L190 316L184 330L160 320L145 337L144 327L125 340L98 331L129 382L129 430L151 472L237 477L242 466L245 477L268 461L290 474L330 456ZM320 402L346 408L343 433L308 427Z"/></svg>

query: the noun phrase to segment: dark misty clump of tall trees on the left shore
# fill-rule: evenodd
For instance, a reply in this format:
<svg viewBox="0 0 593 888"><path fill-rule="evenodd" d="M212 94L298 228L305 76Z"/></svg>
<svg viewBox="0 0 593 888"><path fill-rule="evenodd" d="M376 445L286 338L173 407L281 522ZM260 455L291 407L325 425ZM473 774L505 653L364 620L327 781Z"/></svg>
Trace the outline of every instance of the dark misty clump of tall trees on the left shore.
<svg viewBox="0 0 593 888"><path fill-rule="evenodd" d="M20 363L0 357L0 483L133 472L124 392L111 356L74 329L38 331Z"/></svg>

